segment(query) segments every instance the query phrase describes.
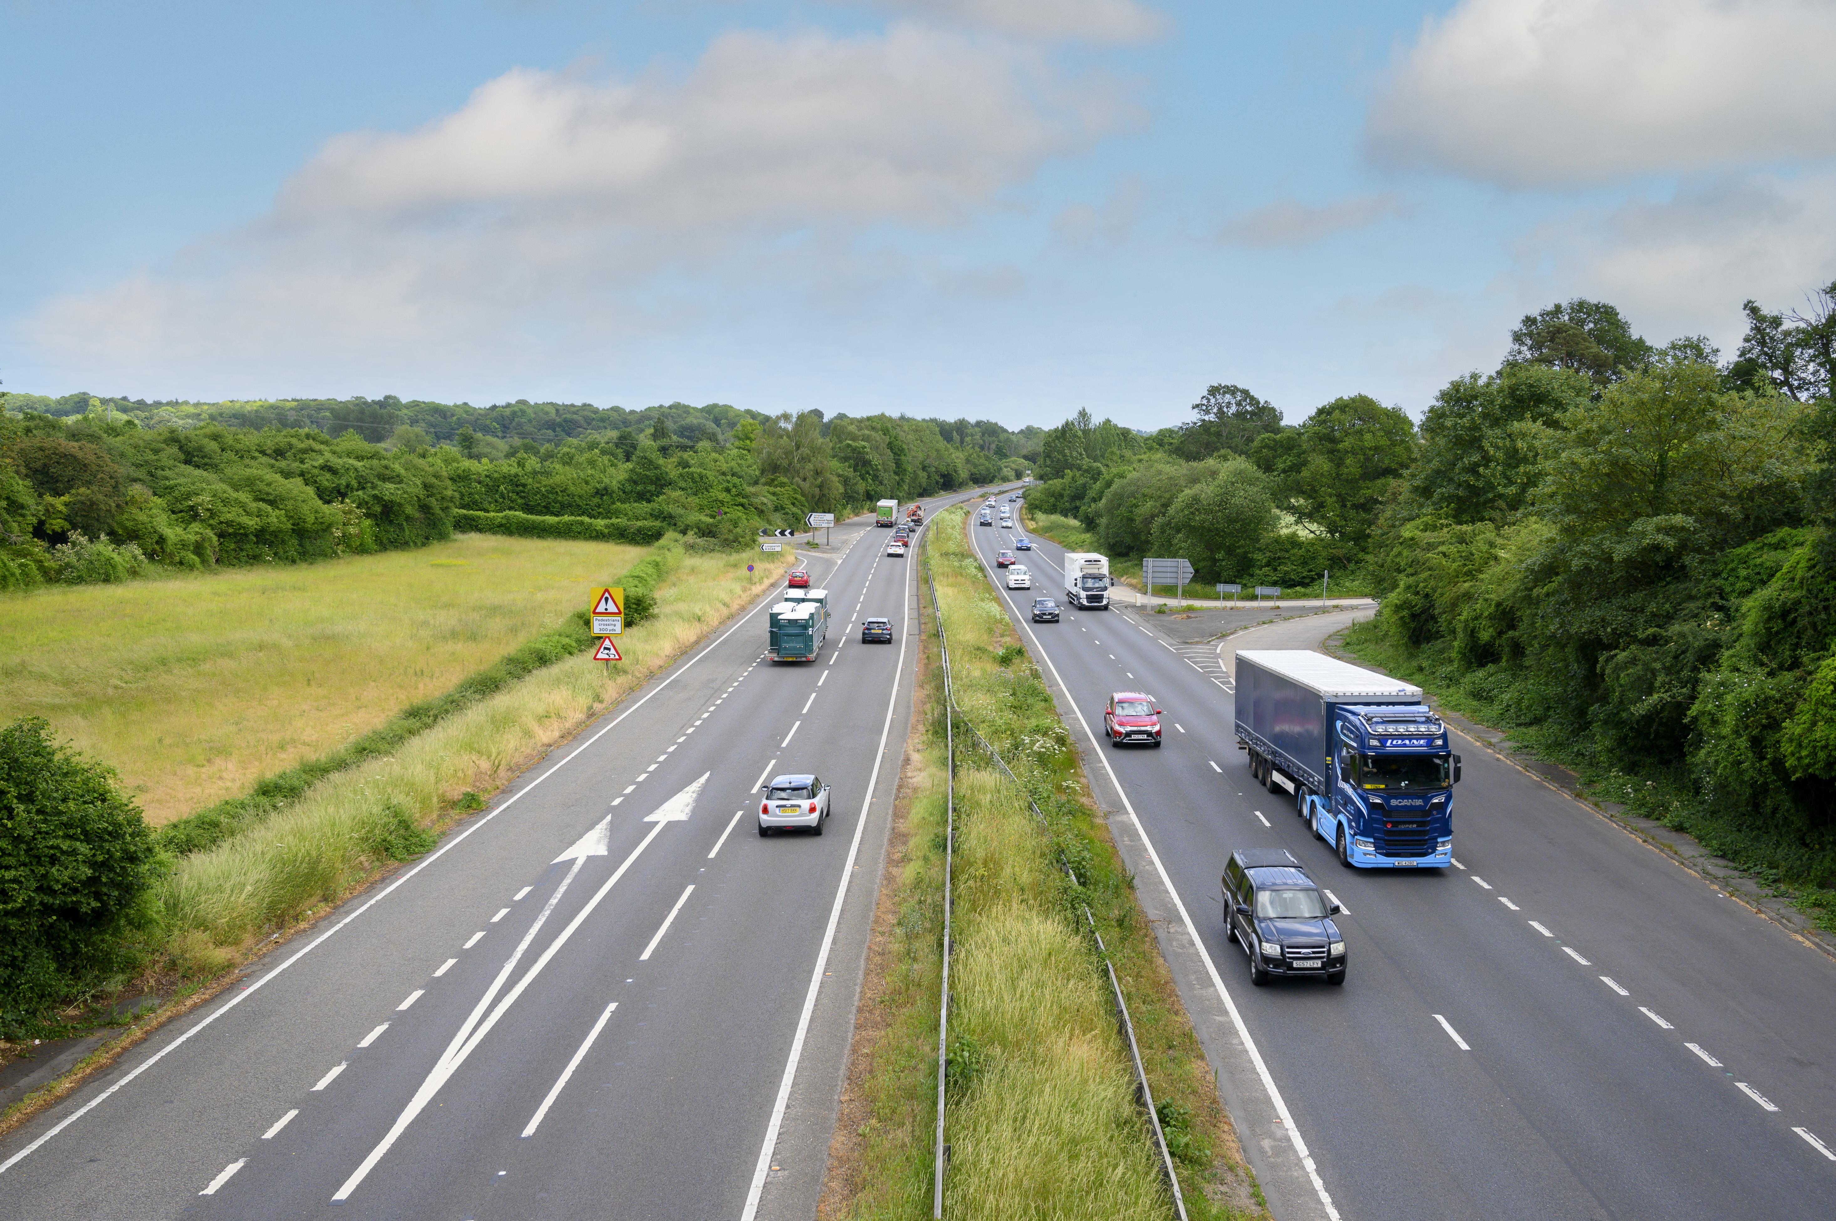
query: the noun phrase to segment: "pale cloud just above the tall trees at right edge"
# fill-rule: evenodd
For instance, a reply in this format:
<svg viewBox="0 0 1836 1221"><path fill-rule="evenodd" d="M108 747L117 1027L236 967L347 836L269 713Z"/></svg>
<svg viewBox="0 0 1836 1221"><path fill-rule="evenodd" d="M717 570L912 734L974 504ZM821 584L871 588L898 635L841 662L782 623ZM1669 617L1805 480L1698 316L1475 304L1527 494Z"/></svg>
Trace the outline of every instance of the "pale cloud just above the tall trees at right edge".
<svg viewBox="0 0 1836 1221"><path fill-rule="evenodd" d="M1836 277L1836 173L1730 176L1660 202L1546 222L1518 242L1526 301L1586 296L1618 305L1647 340L1707 332L1733 351L1741 301L1803 301Z"/></svg>

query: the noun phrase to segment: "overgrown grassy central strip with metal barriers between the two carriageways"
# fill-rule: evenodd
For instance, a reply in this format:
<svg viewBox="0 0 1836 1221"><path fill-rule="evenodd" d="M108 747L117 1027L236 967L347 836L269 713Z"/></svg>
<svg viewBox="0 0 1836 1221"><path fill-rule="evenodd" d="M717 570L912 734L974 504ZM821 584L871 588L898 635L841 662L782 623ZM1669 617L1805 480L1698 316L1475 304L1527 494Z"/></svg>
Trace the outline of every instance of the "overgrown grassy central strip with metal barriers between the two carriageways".
<svg viewBox="0 0 1836 1221"><path fill-rule="evenodd" d="M1170 1215L1085 905L1122 979L1190 1214L1261 1215L1171 975L1094 817L1070 734L968 551L962 516L946 514L929 542L957 701L1026 791L958 722L944 1215ZM924 639L907 802L823 1217L931 1212L946 745L936 639L929 628Z"/></svg>

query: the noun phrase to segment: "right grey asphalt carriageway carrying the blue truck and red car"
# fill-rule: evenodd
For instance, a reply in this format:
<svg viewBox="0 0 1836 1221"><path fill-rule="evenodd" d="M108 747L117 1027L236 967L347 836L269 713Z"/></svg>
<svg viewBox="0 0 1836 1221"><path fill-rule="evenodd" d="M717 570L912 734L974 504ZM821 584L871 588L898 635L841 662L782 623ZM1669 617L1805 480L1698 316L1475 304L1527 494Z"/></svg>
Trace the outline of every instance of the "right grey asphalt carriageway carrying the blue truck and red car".
<svg viewBox="0 0 1836 1221"><path fill-rule="evenodd" d="M1013 534L969 527L990 564ZM1105 773L1092 758L1092 782L1133 810L1210 958L1175 962L1188 1008L1217 1026L1210 1015L1236 1006L1267 1085L1243 1070L1254 1056L1230 1063L1228 1030L1201 1028L1208 1054L1237 1072L1241 1109L1285 1115L1271 1124L1305 1153L1294 1171L1276 1164L1285 1144L1245 1131L1278 1215L1836 1217L1836 962L1458 738L1460 868L1344 868L1291 795L1250 780L1230 657L1311 648L1368 611L1221 646L1175 646L1155 615L1125 608L1030 624L1034 597L1065 602L1063 553L1019 556L1036 588L1002 593L1059 698L1098 734L1109 692L1144 690L1166 711L1160 749L1070 729L1107 760ZM1118 813L1124 841L1136 832ZM1346 905L1344 988L1250 986L1223 931L1234 848L1287 848ZM1144 891L1153 870L1136 870Z"/></svg>

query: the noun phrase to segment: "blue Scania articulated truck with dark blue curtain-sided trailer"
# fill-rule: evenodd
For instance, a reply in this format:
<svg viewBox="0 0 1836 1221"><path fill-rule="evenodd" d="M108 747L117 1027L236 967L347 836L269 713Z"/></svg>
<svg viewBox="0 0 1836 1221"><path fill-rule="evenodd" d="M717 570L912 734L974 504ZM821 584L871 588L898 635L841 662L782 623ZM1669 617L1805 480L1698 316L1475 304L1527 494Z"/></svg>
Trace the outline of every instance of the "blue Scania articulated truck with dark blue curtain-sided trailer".
<svg viewBox="0 0 1836 1221"><path fill-rule="evenodd" d="M1237 654L1237 749L1348 867L1447 868L1460 756L1421 689L1307 650Z"/></svg>

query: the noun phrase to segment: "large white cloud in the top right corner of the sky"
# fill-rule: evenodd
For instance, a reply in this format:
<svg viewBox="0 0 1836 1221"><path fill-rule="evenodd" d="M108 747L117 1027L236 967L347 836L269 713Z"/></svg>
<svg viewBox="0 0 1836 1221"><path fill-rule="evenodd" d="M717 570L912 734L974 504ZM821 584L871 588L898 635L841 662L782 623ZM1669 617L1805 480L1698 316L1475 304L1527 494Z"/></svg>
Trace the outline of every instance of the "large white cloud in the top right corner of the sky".
<svg viewBox="0 0 1836 1221"><path fill-rule="evenodd" d="M1829 0L1461 0L1423 22L1364 140L1507 187L1836 154Z"/></svg>

